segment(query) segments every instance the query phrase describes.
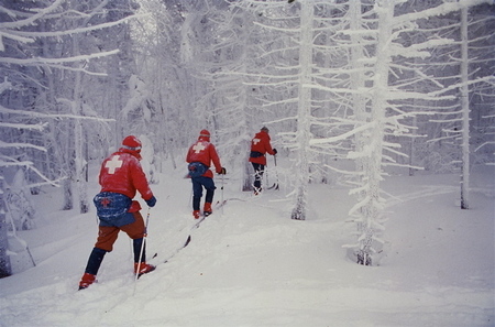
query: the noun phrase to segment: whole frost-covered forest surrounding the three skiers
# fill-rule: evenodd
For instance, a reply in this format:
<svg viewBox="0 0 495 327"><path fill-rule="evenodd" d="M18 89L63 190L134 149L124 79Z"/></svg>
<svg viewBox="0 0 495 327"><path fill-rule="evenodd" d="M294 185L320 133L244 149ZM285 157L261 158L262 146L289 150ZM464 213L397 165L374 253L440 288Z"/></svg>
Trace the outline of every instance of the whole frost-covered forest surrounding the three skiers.
<svg viewBox="0 0 495 327"><path fill-rule="evenodd" d="M459 210L494 196L471 181L495 163L493 31L492 0L1 0L1 276L41 227L36 197L94 216L95 167L125 135L152 187L174 188L161 177L208 129L245 192L263 126L283 218L316 219L311 192L344 187L339 251L377 266L388 178L454 174Z"/></svg>

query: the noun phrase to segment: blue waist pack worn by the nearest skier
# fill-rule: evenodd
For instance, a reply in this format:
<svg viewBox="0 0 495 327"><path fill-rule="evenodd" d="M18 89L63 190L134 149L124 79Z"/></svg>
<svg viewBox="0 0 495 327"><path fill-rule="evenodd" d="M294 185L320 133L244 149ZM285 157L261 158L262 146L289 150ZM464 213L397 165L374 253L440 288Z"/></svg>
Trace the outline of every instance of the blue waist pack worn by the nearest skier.
<svg viewBox="0 0 495 327"><path fill-rule="evenodd" d="M132 199L120 193L101 192L92 199L100 219L114 219L123 216L131 207Z"/></svg>

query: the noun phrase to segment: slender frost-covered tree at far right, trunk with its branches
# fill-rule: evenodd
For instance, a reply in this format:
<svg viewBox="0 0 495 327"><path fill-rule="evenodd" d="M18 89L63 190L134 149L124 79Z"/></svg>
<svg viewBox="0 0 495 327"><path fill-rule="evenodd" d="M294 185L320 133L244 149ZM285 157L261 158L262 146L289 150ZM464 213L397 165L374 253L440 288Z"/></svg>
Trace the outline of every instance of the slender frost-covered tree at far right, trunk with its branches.
<svg viewBox="0 0 495 327"><path fill-rule="evenodd" d="M482 3L482 2L480 2ZM479 6L486 11L493 11L493 7ZM448 137L454 140L454 144L460 148L459 161L461 165L461 192L460 204L462 209L469 209L469 189L470 189L470 171L471 171L471 134L474 130L473 122L479 123L480 119L474 120L475 116L472 113L472 99L476 98L476 91L471 91L481 88L483 85L493 85L493 74L495 73L495 61L490 45L495 44L492 33L486 32L486 29L480 29L480 25L490 26L494 24L495 18L486 12L482 15L477 14L480 8L470 9L463 7L454 11L452 15L459 18L452 23L451 30L458 36L451 46L448 47L450 64L459 67L457 74L452 75L454 83L449 85L447 89L457 94L457 101L448 113L450 117L443 119L443 122L450 122L453 128L446 129ZM469 12L473 12L472 15ZM490 29L490 28L488 28ZM473 31L474 30L474 31ZM480 33L481 31L481 33ZM454 47L454 48L452 48ZM455 47L459 50L455 51ZM452 52L453 50L453 52ZM492 87L493 88L493 87ZM487 97L487 105L493 103L493 97ZM438 120L442 122L442 120ZM475 145L475 144L473 144Z"/></svg>

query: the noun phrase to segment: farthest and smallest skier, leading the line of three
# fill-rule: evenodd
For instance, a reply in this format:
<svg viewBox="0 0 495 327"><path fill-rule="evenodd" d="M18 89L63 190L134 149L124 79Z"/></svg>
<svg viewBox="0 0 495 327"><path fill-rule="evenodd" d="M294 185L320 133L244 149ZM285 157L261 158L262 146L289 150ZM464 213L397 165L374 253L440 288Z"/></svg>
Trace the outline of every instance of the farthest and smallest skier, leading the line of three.
<svg viewBox="0 0 495 327"><path fill-rule="evenodd" d="M251 153L250 153L250 162L253 164L254 168L254 194L258 195L262 187L263 173L265 172L266 166L266 156L268 153L271 155L277 154L276 149L272 149L272 144L270 143L270 130L266 127L263 127L258 133L254 135L251 140Z"/></svg>

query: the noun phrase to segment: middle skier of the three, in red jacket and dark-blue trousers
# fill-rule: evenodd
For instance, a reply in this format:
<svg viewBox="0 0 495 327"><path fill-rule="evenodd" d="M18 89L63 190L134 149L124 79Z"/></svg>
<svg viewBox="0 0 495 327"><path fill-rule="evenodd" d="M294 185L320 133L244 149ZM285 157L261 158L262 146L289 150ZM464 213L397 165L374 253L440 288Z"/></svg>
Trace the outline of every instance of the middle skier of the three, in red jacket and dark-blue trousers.
<svg viewBox="0 0 495 327"><path fill-rule="evenodd" d="M202 130L199 133L198 141L190 145L187 152L186 162L189 163L189 177L193 182L193 216L198 219L200 216L200 203L202 188L206 189L205 206L202 214L211 215L211 203L213 201L215 186L213 173L210 165L213 163L217 174L226 174L226 168L220 164L215 145L210 143L210 132Z"/></svg>

